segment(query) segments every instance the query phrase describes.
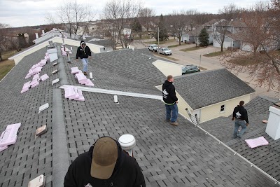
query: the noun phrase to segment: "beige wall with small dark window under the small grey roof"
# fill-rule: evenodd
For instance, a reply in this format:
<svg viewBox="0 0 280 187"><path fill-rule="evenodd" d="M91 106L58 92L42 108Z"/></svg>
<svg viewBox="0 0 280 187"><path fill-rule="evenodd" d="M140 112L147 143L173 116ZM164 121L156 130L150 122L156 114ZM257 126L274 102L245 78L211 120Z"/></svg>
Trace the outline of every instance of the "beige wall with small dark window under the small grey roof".
<svg viewBox="0 0 280 187"><path fill-rule="evenodd" d="M251 94L244 95L241 97L236 97L234 99L227 100L225 102L219 102L217 104L212 104L210 106L206 106L201 109L197 109L195 111L201 110L201 116L200 116L200 123L205 122L207 120L212 120L214 118L218 117L228 117L232 115L233 109L235 109L235 106L239 104L239 102L243 100L246 103L250 102L251 100ZM225 105L225 111L221 113L221 106Z"/></svg>

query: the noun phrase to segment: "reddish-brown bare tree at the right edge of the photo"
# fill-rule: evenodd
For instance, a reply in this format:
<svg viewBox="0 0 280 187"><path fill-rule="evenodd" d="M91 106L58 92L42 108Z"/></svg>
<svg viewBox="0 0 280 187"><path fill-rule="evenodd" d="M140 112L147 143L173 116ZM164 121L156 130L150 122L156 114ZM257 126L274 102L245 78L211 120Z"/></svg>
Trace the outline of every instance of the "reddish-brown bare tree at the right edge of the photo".
<svg viewBox="0 0 280 187"><path fill-rule="evenodd" d="M279 6L278 6L279 7ZM236 72L248 72L255 78L258 86L267 86L280 91L280 53L279 48L279 17L280 9L272 4L269 10L266 4L258 3L242 13L242 21L246 27L238 36L243 45L251 51L232 52L223 55L223 65ZM278 23L277 23L278 22Z"/></svg>

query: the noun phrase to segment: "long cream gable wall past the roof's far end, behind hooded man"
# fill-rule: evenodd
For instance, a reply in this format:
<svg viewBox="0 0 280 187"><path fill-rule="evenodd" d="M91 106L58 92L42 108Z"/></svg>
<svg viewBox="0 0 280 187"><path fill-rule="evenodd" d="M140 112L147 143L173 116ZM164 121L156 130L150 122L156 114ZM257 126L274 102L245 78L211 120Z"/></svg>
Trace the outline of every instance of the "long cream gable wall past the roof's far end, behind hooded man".
<svg viewBox="0 0 280 187"><path fill-rule="evenodd" d="M52 38L48 41L52 41L52 43L63 43L63 40L61 37L55 37ZM9 60L14 60L15 61L15 65L18 64L18 62L20 62L20 60L22 60L23 57L30 55L31 53L36 52L37 50L40 50L41 48L45 48L46 46L49 45L48 41L45 41L43 43L38 44L37 46L34 46L33 48L29 48L28 50L23 51L22 53L19 53L18 55L14 55L13 57L8 58ZM80 46L80 41L75 41L72 39L64 39L64 43L66 45L69 46ZM100 53L100 51L103 50L104 46L98 46L98 45L94 45L92 43L87 43L87 46L90 47L90 50L93 53ZM47 52L47 50L45 49L45 52ZM74 52L76 53L76 52Z"/></svg>

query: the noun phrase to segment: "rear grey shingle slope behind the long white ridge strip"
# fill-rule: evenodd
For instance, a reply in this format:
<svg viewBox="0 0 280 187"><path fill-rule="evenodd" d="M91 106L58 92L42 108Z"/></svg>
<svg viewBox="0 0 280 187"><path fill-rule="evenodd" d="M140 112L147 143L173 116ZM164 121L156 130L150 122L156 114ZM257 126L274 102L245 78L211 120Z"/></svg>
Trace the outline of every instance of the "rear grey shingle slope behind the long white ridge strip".
<svg viewBox="0 0 280 187"><path fill-rule="evenodd" d="M156 59L146 54L150 54L146 49L92 54L88 72L93 74L94 88L162 95L155 86L164 83L166 77L152 64ZM73 63L65 64L66 71L71 67L83 70L82 62L74 61L76 48L73 48L72 56L75 56L71 58ZM67 78L71 85L80 85L75 76L67 74Z"/></svg>

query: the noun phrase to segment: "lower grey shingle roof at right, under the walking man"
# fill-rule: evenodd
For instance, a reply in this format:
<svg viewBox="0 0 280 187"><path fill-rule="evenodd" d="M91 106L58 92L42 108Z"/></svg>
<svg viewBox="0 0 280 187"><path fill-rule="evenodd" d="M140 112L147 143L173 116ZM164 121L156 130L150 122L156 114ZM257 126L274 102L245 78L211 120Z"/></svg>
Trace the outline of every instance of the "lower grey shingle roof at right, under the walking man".
<svg viewBox="0 0 280 187"><path fill-rule="evenodd" d="M272 106L279 99L270 99L267 97L255 97L251 102L245 104L244 108L248 111L249 125L246 133L242 139L233 139L233 122L232 116L228 118L220 117L214 120L207 121L201 124L204 130L207 130L215 137L223 141L230 146L244 158L253 162L260 167L267 174L274 177L276 180L280 180L280 166L279 166L279 149L280 139L274 141L265 133L266 124L262 123L262 120L267 120L269 116L269 106ZM260 146L258 148L249 148L244 139L253 139L256 137L265 137L269 141L269 145Z"/></svg>

